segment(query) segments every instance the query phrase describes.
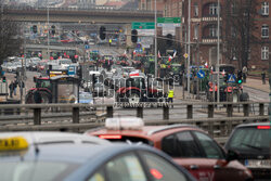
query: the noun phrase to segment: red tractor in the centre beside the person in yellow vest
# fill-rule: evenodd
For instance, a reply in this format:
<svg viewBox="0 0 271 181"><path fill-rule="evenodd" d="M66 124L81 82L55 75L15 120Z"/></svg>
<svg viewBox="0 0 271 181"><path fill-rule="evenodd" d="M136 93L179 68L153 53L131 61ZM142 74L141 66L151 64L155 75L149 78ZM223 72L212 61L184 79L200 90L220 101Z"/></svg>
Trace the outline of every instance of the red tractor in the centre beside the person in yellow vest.
<svg viewBox="0 0 271 181"><path fill-rule="evenodd" d="M116 101L131 104L140 102L165 102L166 98L162 81L159 78L130 77L117 90Z"/></svg>

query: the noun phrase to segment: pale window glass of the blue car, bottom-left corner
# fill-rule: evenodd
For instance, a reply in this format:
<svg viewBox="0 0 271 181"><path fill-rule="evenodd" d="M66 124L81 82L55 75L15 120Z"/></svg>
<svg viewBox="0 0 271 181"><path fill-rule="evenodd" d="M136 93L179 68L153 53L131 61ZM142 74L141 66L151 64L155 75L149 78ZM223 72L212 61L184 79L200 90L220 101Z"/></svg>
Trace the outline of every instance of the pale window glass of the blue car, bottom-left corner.
<svg viewBox="0 0 271 181"><path fill-rule="evenodd" d="M78 165L53 161L1 161L1 180L25 181L25 180L63 180L76 170Z"/></svg>

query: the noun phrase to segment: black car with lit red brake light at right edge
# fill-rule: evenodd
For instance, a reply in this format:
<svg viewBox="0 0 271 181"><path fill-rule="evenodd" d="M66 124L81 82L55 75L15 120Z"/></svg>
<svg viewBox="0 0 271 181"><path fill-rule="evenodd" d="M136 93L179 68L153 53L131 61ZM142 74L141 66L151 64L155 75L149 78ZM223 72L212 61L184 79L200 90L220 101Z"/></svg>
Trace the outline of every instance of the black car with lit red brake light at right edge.
<svg viewBox="0 0 271 181"><path fill-rule="evenodd" d="M251 170L255 180L271 179L270 132L270 122L242 124L224 145L240 154L238 160Z"/></svg>

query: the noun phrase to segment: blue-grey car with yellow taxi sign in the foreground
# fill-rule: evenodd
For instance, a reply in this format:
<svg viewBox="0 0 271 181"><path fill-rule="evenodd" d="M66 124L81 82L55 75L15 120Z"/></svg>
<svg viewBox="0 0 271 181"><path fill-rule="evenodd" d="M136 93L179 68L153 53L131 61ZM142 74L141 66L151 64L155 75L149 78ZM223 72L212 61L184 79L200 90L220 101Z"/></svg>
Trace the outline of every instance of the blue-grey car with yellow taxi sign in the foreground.
<svg viewBox="0 0 271 181"><path fill-rule="evenodd" d="M78 138L74 134L70 139L70 133L61 132L51 137L62 137L59 142L50 139L40 142L38 134L0 133L1 180L195 181L170 157L150 146L98 144L82 141L81 138L86 138L82 134L77 134Z"/></svg>

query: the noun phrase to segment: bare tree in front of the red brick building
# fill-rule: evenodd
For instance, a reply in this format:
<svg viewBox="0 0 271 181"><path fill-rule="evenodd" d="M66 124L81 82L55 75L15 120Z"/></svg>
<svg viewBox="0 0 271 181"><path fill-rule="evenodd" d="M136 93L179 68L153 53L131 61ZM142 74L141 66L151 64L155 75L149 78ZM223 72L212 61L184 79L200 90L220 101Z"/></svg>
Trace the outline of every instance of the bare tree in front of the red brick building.
<svg viewBox="0 0 271 181"><path fill-rule="evenodd" d="M227 0L222 11L225 28L224 56L229 63L235 57L240 69L247 67L250 47L258 41L253 34L257 29L257 4L255 0Z"/></svg>

